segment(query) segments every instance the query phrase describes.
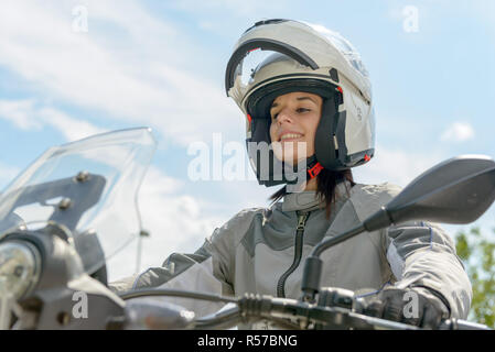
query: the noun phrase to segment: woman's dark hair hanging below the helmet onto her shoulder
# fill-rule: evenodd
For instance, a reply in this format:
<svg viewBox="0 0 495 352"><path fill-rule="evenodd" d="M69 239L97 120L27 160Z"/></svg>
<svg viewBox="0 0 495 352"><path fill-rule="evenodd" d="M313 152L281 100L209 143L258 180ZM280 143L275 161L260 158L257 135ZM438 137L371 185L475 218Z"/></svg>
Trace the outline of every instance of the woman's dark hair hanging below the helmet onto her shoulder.
<svg viewBox="0 0 495 352"><path fill-rule="evenodd" d="M356 183L353 178L353 173L351 169L345 169L342 172L332 172L330 169L322 169L320 174L316 176L316 196L320 196L326 202L326 218L330 218L330 213L332 212L332 204L335 202L335 187L338 183L347 180L353 187ZM348 194L348 188L346 189ZM270 196L269 200L271 204L279 201L288 194L287 186L283 186L279 190L277 190L273 195Z"/></svg>

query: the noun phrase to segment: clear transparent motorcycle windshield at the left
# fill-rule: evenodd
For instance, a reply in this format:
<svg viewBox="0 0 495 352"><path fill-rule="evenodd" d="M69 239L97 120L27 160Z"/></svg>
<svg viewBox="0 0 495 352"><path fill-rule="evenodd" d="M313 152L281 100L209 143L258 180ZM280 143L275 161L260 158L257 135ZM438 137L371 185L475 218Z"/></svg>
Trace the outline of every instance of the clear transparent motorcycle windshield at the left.
<svg viewBox="0 0 495 352"><path fill-rule="evenodd" d="M56 223L94 273L142 230L138 190L155 146L151 130L139 128L49 148L0 195L0 239Z"/></svg>

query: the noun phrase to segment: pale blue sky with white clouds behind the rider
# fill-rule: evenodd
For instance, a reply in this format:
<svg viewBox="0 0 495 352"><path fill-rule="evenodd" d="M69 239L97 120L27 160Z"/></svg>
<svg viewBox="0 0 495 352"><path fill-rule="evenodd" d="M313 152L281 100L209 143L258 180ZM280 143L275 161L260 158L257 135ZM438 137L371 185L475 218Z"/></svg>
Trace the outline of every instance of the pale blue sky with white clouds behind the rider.
<svg viewBox="0 0 495 352"><path fill-rule="evenodd" d="M418 14L412 32L405 30L410 7ZM267 205L275 191L252 180L187 178L191 143L212 145L213 133L224 143L244 140L224 69L238 36L270 18L325 25L361 52L377 145L376 157L356 168L358 182L405 186L451 156L495 157L491 0L8 0L0 12L0 186L53 144L149 125L160 144L140 200L152 234L142 268L172 251L194 251L215 227ZM495 226L494 207L478 223ZM114 275L133 270L127 263Z"/></svg>

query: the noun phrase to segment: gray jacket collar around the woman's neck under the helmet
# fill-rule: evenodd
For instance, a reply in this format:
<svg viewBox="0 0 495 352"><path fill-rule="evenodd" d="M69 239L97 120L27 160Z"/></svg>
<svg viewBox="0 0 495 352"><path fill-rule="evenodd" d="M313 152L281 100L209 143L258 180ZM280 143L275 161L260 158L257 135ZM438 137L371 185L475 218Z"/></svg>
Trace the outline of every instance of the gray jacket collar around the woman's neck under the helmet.
<svg viewBox="0 0 495 352"><path fill-rule="evenodd" d="M335 196L337 199L342 197L347 198L346 186L351 186L347 180L336 185ZM283 197L282 211L312 211L315 209L325 208L325 201L321 197L316 196L316 191L304 190L300 193L287 194Z"/></svg>

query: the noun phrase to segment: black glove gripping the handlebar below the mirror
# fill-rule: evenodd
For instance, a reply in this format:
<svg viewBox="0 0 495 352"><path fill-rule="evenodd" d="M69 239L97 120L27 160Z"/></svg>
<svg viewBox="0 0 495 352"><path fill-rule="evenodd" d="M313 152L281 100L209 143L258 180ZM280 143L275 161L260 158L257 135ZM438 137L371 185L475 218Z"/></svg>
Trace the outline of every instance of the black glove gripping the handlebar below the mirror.
<svg viewBox="0 0 495 352"><path fill-rule="evenodd" d="M387 288L364 302L363 314L427 329L450 316L446 301L426 287Z"/></svg>

